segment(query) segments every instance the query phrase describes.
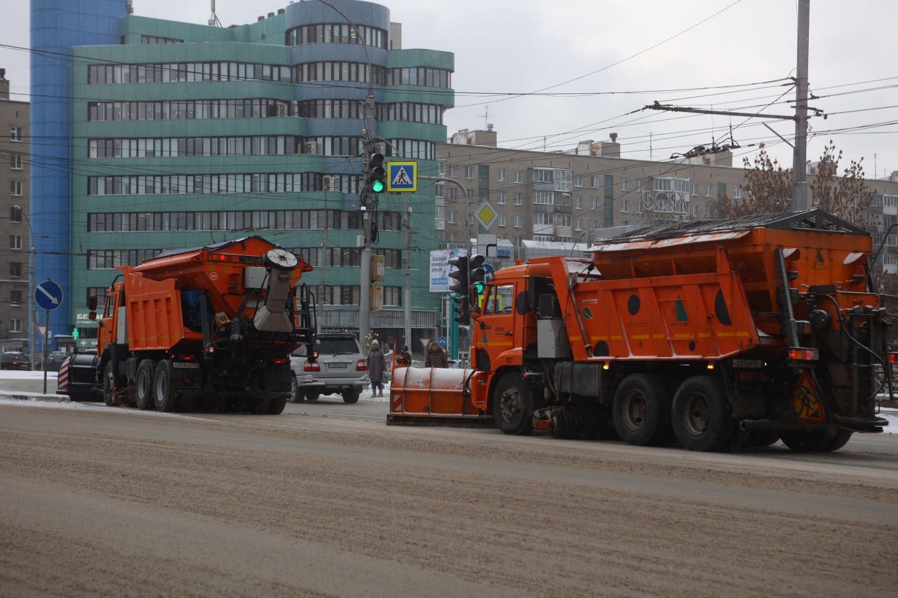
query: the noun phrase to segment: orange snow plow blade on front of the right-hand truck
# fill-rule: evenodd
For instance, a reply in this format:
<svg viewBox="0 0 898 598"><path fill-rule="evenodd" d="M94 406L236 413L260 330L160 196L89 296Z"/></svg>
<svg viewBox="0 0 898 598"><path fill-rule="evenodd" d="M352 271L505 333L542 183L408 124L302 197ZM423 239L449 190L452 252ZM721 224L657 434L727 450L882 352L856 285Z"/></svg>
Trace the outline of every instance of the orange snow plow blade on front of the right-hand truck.
<svg viewBox="0 0 898 598"><path fill-rule="evenodd" d="M396 367L390 383L387 424L492 426L493 418L471 401L471 369Z"/></svg>

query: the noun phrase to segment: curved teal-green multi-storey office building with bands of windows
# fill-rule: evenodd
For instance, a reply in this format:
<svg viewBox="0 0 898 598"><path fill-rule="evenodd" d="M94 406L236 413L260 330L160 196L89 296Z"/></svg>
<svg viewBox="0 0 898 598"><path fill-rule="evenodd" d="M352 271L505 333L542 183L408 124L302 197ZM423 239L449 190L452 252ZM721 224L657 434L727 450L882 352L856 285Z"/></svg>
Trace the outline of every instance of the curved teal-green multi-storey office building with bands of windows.
<svg viewBox="0 0 898 598"><path fill-rule="evenodd" d="M35 4L70 6L35 0L32 22ZM66 48L70 188L34 204L39 212L71 199L71 256L51 276L72 301L58 319L82 328L88 297L103 293L117 266L260 234L315 268L304 282L318 289L322 328L357 328L365 97L374 95L387 161L434 170L453 105L453 55L401 48L388 9L357 0L333 0L339 12L291 3L226 29L139 17L123 1L75 4L103 4L116 15L116 35ZM32 81L42 76L32 72ZM420 189L410 228L423 251L404 247L401 198L383 194L374 209L372 248L386 276L371 326L388 340L405 324L405 259L413 330L428 336L437 321L438 299L420 292L427 250L437 246L434 189ZM84 323L80 331L95 330Z"/></svg>

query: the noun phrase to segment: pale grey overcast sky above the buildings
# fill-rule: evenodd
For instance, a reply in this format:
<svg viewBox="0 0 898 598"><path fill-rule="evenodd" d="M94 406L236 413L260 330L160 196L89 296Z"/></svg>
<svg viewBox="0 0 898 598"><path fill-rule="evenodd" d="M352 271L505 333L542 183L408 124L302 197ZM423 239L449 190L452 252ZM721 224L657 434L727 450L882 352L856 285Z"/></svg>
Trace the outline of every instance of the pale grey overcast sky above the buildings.
<svg viewBox="0 0 898 598"><path fill-rule="evenodd" d="M313 0L310 0L313 1ZM402 23L404 48L455 54L458 108L448 133L498 132L499 145L549 151L616 132L622 156L664 160L695 145L733 140L734 165L768 144L784 166L791 149L762 125L791 140L791 121L639 111L660 101L713 110L792 114L795 98L797 3L788 0L383 0ZM816 160L832 139L843 166L863 157L867 177L898 171L898 56L891 0L813 0L807 156ZM226 26L254 22L284 0L216 0ZM206 23L209 0L134 0L135 13ZM13 99L28 96L28 3L0 0L4 15L0 67ZM775 82L762 84L761 82ZM742 87L739 87L742 86ZM520 97L510 94L538 92ZM683 91L672 91L683 90ZM550 95L547 95L550 94ZM582 94L582 95L576 95ZM778 97L782 95L781 98ZM770 102L774 102L770 104ZM769 105L770 104L770 105ZM636 111L634 113L634 110ZM489 116L487 116L489 114ZM889 124L892 123L892 124ZM876 166L875 166L876 165Z"/></svg>

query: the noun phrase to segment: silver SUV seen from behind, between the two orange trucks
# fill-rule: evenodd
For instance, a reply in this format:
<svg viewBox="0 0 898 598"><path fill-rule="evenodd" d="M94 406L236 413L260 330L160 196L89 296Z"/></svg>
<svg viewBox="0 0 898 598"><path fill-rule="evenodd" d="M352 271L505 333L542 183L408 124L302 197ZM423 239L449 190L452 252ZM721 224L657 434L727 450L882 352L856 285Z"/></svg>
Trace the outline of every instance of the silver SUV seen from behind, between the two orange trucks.
<svg viewBox="0 0 898 598"><path fill-rule="evenodd" d="M303 367L304 374L312 374L313 380L297 378L305 400L318 400L322 394L339 394L343 402L357 402L370 381L367 360L356 335L321 332L315 335L313 350L318 355L316 363ZM290 361L293 365L293 359Z"/></svg>

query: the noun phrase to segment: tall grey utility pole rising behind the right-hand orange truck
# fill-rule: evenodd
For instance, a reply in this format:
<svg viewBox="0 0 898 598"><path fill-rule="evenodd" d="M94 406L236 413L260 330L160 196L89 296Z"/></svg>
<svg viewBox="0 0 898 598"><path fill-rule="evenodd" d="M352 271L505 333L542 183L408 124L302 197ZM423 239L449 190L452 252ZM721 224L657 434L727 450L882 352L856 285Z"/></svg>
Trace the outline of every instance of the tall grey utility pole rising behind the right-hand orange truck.
<svg viewBox="0 0 898 598"><path fill-rule="evenodd" d="M798 0L798 56L795 88L795 147L792 153L792 209L807 209L807 53L811 0Z"/></svg>

